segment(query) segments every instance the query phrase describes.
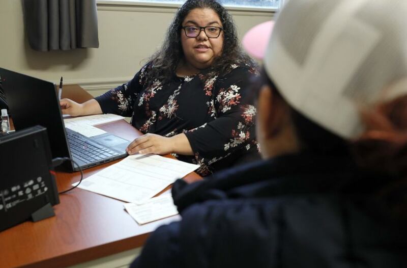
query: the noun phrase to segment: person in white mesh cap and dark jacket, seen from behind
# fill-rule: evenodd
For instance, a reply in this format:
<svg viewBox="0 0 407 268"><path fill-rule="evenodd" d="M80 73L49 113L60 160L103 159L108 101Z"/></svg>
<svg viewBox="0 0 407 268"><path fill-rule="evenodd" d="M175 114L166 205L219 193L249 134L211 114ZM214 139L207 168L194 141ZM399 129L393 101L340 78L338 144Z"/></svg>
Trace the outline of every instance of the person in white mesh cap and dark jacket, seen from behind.
<svg viewBox="0 0 407 268"><path fill-rule="evenodd" d="M258 86L265 159L177 180L182 220L131 267L407 267L405 14L403 0L287 2Z"/></svg>

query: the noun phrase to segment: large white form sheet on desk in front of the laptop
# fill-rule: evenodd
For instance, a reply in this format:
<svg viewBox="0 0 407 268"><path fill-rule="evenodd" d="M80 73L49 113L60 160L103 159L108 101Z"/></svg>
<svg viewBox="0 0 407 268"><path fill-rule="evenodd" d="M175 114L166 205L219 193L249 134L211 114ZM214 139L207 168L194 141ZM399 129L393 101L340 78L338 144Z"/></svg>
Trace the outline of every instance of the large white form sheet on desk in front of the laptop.
<svg viewBox="0 0 407 268"><path fill-rule="evenodd" d="M130 203L142 204L176 179L198 167L155 154L130 155L84 179L78 187Z"/></svg>

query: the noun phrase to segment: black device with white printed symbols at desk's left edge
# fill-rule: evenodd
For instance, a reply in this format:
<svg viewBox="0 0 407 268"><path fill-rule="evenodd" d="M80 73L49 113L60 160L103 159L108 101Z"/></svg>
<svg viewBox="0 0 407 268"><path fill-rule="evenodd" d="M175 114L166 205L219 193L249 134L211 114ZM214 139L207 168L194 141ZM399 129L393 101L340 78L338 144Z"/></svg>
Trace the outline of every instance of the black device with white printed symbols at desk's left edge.
<svg viewBox="0 0 407 268"><path fill-rule="evenodd" d="M0 231L54 216L60 199L44 127L0 136L0 170Z"/></svg>

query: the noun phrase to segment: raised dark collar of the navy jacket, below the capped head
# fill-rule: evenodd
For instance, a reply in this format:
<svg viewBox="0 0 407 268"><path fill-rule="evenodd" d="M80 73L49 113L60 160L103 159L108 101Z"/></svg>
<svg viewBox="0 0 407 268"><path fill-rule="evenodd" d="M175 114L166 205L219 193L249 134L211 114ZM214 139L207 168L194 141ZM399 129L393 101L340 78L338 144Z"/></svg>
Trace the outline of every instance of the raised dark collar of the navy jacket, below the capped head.
<svg viewBox="0 0 407 268"><path fill-rule="evenodd" d="M384 181L357 168L349 155L302 152L228 169L192 184L177 180L172 196L181 211L210 199L371 192Z"/></svg>

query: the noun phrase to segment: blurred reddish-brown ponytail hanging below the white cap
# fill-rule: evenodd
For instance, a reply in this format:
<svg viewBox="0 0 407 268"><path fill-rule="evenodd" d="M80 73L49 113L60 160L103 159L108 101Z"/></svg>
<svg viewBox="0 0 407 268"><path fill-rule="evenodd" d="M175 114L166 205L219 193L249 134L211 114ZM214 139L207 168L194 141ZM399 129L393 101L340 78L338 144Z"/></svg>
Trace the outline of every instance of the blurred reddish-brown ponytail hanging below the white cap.
<svg viewBox="0 0 407 268"><path fill-rule="evenodd" d="M407 218L407 95L361 110L364 133L351 142L358 166L398 178L378 193L391 216Z"/></svg>

